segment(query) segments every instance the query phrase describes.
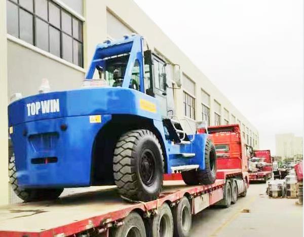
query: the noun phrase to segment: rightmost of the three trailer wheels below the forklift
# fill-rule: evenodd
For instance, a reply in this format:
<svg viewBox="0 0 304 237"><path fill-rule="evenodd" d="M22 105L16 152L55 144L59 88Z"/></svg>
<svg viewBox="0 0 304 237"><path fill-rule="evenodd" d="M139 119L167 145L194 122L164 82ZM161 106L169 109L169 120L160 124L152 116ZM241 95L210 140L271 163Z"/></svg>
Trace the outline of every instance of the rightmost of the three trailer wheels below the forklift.
<svg viewBox="0 0 304 237"><path fill-rule="evenodd" d="M191 206L188 199L184 196L173 211L174 236L189 236L192 225Z"/></svg>

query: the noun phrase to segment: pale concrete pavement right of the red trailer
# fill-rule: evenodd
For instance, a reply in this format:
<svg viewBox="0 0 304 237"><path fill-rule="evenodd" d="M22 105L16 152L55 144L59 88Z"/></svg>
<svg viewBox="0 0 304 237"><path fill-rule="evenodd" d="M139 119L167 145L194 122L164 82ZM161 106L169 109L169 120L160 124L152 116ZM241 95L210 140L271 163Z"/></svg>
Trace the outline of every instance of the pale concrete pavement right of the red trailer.
<svg viewBox="0 0 304 237"><path fill-rule="evenodd" d="M208 208L193 217L191 236L303 236L303 209L296 199L270 199L265 184L251 184L230 208Z"/></svg>

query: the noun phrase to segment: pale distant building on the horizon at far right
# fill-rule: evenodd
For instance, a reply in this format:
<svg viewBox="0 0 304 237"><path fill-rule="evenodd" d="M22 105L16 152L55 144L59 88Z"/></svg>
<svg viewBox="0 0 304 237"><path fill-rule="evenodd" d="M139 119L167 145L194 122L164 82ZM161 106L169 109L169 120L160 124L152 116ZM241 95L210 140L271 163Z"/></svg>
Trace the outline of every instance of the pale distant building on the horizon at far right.
<svg viewBox="0 0 304 237"><path fill-rule="evenodd" d="M292 158L303 154L303 137L296 137L293 133L276 134L276 155L282 158Z"/></svg>

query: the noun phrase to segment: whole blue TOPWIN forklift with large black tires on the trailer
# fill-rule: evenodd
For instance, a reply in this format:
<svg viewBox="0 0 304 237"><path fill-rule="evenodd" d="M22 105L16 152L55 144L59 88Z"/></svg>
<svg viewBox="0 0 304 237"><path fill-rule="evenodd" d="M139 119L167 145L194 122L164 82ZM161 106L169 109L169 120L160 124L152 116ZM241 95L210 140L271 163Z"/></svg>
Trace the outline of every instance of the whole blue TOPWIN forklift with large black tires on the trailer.
<svg viewBox="0 0 304 237"><path fill-rule="evenodd" d="M116 184L127 199L151 201L164 173L181 173L188 185L214 183L215 147L208 134L183 130L167 106L174 90L168 63L144 43L126 35L97 45L85 81L97 75L103 86L9 105L10 180L19 198L51 200L67 187Z"/></svg>

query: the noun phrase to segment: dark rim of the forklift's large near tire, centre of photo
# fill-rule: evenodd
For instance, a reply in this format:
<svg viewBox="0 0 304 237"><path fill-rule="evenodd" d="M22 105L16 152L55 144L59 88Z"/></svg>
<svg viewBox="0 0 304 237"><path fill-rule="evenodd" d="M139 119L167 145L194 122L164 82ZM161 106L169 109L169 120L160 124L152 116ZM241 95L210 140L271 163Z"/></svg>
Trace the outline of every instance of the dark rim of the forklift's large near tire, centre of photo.
<svg viewBox="0 0 304 237"><path fill-rule="evenodd" d="M155 155L150 149L145 149L140 157L139 173L146 186L151 186L154 183L155 171Z"/></svg>

